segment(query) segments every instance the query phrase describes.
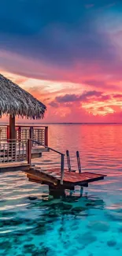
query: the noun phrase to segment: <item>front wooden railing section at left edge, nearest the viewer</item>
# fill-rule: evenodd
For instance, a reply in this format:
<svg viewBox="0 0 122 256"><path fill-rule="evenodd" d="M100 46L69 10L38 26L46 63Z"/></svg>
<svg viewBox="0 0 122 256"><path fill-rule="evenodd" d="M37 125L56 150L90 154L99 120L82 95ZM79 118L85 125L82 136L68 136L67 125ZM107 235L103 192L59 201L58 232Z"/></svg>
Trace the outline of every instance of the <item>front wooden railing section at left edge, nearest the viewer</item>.
<svg viewBox="0 0 122 256"><path fill-rule="evenodd" d="M0 143L0 163L27 161L27 140L13 139Z"/></svg>

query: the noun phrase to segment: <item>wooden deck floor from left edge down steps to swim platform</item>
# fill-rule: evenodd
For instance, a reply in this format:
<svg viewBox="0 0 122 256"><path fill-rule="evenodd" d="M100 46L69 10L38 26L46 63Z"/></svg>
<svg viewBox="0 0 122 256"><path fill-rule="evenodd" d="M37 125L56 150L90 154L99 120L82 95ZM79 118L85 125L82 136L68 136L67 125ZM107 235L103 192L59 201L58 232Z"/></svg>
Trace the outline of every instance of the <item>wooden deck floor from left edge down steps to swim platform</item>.
<svg viewBox="0 0 122 256"><path fill-rule="evenodd" d="M63 176L63 184L61 184L61 169L40 169L39 166L31 167L28 163L23 162L13 162L0 164L0 173L22 171L27 174L28 180L49 185L50 191L53 190L54 193L58 191L65 191L65 189L74 190L76 185L80 187L88 187L89 183L94 181L103 180L106 175L99 173L74 173L68 172L65 169Z"/></svg>

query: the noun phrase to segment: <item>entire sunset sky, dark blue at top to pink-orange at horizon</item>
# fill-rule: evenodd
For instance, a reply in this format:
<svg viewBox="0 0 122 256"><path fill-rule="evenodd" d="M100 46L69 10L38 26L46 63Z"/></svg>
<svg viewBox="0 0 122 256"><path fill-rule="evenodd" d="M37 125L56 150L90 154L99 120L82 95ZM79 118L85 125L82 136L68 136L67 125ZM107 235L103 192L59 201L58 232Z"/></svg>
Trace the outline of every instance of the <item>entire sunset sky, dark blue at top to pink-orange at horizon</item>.
<svg viewBox="0 0 122 256"><path fill-rule="evenodd" d="M0 72L43 122L122 122L122 0L2 0Z"/></svg>

